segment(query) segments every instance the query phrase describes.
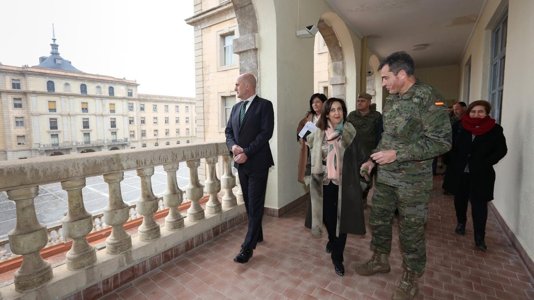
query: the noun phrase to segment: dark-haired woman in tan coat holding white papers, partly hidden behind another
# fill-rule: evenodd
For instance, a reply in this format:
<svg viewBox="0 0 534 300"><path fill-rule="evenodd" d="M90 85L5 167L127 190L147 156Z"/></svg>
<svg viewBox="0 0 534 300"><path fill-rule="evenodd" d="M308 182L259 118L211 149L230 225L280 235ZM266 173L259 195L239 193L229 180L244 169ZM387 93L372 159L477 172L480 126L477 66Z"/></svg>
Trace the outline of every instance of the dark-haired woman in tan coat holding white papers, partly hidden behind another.
<svg viewBox="0 0 534 300"><path fill-rule="evenodd" d="M298 179L299 182L304 183L304 171L306 171L306 161L308 160L308 145L304 143L304 140L299 133L302 131L302 128L306 123L311 122L313 125L317 123L319 116L321 115L321 110L323 109L323 102L326 101L326 96L323 94L313 94L310 98L310 110L306 113L304 118L300 121L299 126L297 126L297 141L301 144L301 150L299 153L299 172Z"/></svg>

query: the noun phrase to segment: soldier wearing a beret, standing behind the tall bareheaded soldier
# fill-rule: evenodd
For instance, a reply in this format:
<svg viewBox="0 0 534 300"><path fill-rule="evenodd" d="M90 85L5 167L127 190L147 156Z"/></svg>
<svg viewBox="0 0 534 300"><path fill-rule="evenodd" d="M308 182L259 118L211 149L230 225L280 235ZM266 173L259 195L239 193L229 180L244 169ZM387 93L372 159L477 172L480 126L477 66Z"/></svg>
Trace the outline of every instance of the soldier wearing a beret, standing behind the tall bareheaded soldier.
<svg viewBox="0 0 534 300"><path fill-rule="evenodd" d="M347 121L360 133L366 159L371 157L371 153L373 152L373 149L376 148L376 145L378 145L382 134L382 126L379 128L379 124L382 123L382 114L376 110L371 110L371 99L373 99L373 96L370 94L360 93L358 95L357 109L349 113L349 116L347 117ZM368 183L367 188L362 191L364 208L367 207L367 194L373 186L372 174L370 174L370 176L371 182ZM362 181L367 183L363 178Z"/></svg>

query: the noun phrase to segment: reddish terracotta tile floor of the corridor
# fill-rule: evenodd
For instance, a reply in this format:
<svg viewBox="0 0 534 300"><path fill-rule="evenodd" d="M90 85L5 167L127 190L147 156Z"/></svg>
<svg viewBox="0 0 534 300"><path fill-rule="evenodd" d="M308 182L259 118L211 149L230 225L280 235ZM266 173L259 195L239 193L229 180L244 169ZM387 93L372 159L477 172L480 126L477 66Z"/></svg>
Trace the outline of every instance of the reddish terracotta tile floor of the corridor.
<svg viewBox="0 0 534 300"><path fill-rule="evenodd" d="M441 187L439 177L436 187ZM368 211L366 219L368 219ZM470 212L468 212L468 215ZM327 237L311 237L304 228L305 205L281 218L264 217L265 241L247 264L234 263L246 233L241 224L147 273L101 299L351 299L389 300L402 275L398 222L394 222L391 273L362 277L355 265L371 256L370 230L350 236L345 248L345 275L336 275L325 253ZM456 221L451 196L436 188L427 223L427 269L419 279L418 300L534 299L532 278L493 214L489 213L486 244L474 247L472 222L465 236L454 233Z"/></svg>

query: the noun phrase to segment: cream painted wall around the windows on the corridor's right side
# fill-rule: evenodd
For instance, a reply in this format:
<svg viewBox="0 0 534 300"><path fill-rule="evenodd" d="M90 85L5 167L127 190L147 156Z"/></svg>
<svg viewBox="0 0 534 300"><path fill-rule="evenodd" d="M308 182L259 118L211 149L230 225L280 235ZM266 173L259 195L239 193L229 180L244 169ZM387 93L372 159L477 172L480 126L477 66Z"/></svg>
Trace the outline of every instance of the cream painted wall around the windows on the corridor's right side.
<svg viewBox="0 0 534 300"><path fill-rule="evenodd" d="M471 57L470 99L487 100L489 83L490 32L502 15L504 3L489 0L460 62L460 82L465 82L465 63ZM493 204L515 233L521 245L534 257L534 2L511 1L508 10L505 82L501 125L508 154L495 167L497 180ZM459 88L462 99L465 87Z"/></svg>

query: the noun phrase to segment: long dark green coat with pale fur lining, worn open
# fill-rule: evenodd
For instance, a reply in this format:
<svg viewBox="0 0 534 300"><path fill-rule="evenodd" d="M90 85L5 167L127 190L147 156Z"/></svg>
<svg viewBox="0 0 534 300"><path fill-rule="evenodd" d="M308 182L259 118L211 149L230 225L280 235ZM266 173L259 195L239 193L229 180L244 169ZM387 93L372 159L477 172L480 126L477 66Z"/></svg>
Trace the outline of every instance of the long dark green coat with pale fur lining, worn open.
<svg viewBox="0 0 534 300"><path fill-rule="evenodd" d="M317 129L308 136L310 156L306 165L304 182L310 188L311 205L308 205L305 226L311 233L323 234L323 155L321 144L325 131ZM360 187L360 166L365 154L359 134L349 122L343 124L340 151L341 170L337 206L336 236L341 233L365 234L365 219Z"/></svg>

